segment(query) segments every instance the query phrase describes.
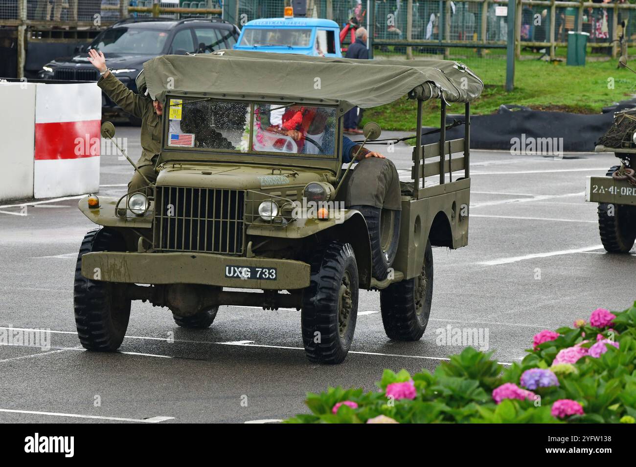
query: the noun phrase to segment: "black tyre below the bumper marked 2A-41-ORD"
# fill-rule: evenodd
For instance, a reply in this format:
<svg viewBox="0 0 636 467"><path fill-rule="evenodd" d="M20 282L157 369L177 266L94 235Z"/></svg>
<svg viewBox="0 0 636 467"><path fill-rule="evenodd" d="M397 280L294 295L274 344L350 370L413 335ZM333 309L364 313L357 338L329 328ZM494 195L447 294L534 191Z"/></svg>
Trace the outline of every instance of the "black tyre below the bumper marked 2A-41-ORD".
<svg viewBox="0 0 636 467"><path fill-rule="evenodd" d="M619 168L613 166L605 175L611 177ZM598 203L598 232L608 253L630 252L636 240L636 206Z"/></svg>

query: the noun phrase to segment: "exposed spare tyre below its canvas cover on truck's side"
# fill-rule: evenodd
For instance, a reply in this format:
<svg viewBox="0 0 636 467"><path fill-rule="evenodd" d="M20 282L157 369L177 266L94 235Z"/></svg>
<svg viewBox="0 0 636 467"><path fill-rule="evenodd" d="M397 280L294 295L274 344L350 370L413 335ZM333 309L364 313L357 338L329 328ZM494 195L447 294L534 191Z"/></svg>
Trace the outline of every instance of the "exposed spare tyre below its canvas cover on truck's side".
<svg viewBox="0 0 636 467"><path fill-rule="evenodd" d="M364 216L369 229L373 277L384 280L397 254L401 211L375 206L350 206Z"/></svg>

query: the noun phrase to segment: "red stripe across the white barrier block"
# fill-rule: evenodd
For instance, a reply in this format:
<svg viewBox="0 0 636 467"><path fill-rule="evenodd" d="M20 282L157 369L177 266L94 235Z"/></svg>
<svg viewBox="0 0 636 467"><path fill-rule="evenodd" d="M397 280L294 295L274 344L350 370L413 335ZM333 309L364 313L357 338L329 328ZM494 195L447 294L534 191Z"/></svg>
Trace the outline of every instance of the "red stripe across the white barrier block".
<svg viewBox="0 0 636 467"><path fill-rule="evenodd" d="M35 160L99 156L99 120L36 123Z"/></svg>

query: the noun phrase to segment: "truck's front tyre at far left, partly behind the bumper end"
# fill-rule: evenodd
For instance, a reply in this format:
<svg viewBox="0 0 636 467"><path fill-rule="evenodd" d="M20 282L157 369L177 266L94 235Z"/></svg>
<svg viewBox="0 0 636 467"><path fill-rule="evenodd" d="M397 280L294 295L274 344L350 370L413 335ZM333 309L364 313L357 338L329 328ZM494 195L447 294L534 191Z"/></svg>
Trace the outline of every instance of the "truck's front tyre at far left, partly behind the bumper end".
<svg viewBox="0 0 636 467"><path fill-rule="evenodd" d="M130 318L130 299L123 294L125 285L90 280L81 273L82 256L102 251L125 251L121 236L102 228L92 230L84 237L75 267L75 324L84 348L115 351L123 341Z"/></svg>

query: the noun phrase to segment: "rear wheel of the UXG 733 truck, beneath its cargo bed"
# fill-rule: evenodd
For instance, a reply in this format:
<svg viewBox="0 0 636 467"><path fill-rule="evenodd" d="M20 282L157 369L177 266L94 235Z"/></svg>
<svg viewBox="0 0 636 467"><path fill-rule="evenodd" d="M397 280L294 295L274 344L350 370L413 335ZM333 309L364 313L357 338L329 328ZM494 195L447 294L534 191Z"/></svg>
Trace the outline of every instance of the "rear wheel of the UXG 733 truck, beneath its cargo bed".
<svg viewBox="0 0 636 467"><path fill-rule="evenodd" d="M431 315L432 295L433 253L427 240L421 273L380 290L382 324L389 339L418 341L422 338Z"/></svg>

